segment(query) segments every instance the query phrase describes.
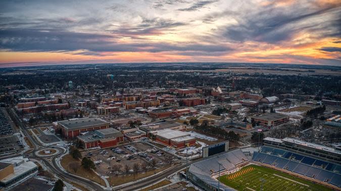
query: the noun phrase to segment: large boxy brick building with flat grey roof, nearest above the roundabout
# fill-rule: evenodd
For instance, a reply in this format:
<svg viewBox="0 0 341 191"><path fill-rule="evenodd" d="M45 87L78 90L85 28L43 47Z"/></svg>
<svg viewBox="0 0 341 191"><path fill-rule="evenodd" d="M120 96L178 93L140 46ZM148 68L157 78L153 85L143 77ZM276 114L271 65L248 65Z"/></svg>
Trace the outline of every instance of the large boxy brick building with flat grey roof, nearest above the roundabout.
<svg viewBox="0 0 341 191"><path fill-rule="evenodd" d="M74 139L81 135L81 132L108 129L109 124L109 122L96 117L53 122L55 132L60 132L66 139Z"/></svg>

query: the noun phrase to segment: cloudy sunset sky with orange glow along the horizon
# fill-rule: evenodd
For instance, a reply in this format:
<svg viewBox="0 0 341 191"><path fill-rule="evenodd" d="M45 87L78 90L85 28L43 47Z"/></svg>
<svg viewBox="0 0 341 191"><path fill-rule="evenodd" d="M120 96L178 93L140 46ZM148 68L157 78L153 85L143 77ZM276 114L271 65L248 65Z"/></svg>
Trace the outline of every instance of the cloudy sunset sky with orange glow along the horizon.
<svg viewBox="0 0 341 191"><path fill-rule="evenodd" d="M5 1L0 67L262 62L341 66L341 1Z"/></svg>

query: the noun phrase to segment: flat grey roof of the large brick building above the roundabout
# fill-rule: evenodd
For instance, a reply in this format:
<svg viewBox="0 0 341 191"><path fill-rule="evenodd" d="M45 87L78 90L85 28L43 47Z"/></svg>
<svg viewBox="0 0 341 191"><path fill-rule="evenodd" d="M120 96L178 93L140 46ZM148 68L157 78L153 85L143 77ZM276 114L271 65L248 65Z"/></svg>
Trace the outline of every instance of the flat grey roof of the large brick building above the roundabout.
<svg viewBox="0 0 341 191"><path fill-rule="evenodd" d="M74 119L74 120L66 120L66 121L60 121L58 122L64 128L66 129L78 129L83 128L84 126L93 126L93 125L106 125L109 124L109 122L100 119L100 118L80 118L80 119Z"/></svg>

